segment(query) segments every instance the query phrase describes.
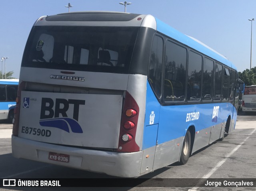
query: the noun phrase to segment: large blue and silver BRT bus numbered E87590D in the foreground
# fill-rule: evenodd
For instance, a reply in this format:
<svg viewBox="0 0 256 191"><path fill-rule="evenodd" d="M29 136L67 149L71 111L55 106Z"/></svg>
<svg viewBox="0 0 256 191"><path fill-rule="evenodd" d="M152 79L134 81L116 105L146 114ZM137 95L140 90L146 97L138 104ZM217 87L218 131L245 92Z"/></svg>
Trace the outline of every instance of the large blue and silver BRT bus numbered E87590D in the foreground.
<svg viewBox="0 0 256 191"><path fill-rule="evenodd" d="M118 177L185 164L234 130L240 82L226 57L151 15L43 16L24 50L12 154Z"/></svg>

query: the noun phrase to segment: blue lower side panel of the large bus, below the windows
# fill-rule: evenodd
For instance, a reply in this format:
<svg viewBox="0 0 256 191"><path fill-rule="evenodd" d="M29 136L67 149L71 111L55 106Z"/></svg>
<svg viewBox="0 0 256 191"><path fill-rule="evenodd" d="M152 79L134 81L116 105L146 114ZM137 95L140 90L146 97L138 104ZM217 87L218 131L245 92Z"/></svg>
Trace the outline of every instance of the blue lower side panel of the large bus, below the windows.
<svg viewBox="0 0 256 191"><path fill-rule="evenodd" d="M199 103L201 102L192 105L161 106L147 82L143 150L155 146L156 138L158 144L162 144L183 137L190 125L193 125L197 132L226 122L228 116L236 120L236 109L229 102ZM154 124L150 124L152 111L154 111ZM157 126L154 126L156 124L158 130L156 130Z"/></svg>

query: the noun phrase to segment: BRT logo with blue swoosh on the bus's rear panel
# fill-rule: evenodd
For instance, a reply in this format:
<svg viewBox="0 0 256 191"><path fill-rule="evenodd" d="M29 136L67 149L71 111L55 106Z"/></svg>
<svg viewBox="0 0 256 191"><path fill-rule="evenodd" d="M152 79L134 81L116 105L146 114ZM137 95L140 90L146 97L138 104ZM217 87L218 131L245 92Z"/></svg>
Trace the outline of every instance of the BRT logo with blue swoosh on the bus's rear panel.
<svg viewBox="0 0 256 191"><path fill-rule="evenodd" d="M67 115L70 104L74 105L73 118L68 118ZM85 100L56 98L54 108L54 100L51 98L42 98L40 125L59 128L66 132L69 132L70 127L72 132L82 133L82 128L78 124L78 116L79 107L84 104ZM60 118L60 114L62 118Z"/></svg>

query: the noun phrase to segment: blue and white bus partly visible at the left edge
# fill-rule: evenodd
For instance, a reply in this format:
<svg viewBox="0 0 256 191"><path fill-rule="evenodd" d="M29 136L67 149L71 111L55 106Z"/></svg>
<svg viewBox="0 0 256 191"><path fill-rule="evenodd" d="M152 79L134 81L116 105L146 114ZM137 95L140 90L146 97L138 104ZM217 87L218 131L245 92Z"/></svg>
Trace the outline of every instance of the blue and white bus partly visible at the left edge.
<svg viewBox="0 0 256 191"><path fill-rule="evenodd" d="M14 122L14 106L18 93L18 79L0 79L0 120Z"/></svg>

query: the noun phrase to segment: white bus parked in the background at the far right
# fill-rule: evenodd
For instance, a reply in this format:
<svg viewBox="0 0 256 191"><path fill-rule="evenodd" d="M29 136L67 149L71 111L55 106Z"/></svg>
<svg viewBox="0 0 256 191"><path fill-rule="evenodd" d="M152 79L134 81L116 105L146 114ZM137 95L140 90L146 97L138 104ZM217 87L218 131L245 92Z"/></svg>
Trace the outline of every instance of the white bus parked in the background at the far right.
<svg viewBox="0 0 256 191"><path fill-rule="evenodd" d="M244 87L242 111L256 111L256 85Z"/></svg>

